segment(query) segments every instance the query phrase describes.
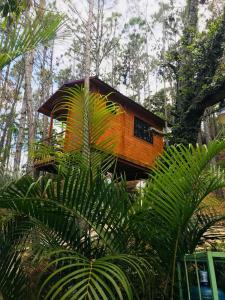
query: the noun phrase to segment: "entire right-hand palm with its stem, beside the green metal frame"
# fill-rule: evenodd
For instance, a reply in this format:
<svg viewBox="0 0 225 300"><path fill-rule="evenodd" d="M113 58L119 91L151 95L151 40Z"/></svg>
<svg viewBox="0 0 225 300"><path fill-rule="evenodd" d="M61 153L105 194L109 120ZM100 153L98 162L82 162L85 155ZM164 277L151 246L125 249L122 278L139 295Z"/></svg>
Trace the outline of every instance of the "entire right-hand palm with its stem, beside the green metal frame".
<svg viewBox="0 0 225 300"><path fill-rule="evenodd" d="M158 256L169 299L174 299L177 259L193 253L204 232L224 218L204 204L208 194L225 186L224 171L210 164L224 149L225 141L208 147L171 146L134 205L132 232Z"/></svg>

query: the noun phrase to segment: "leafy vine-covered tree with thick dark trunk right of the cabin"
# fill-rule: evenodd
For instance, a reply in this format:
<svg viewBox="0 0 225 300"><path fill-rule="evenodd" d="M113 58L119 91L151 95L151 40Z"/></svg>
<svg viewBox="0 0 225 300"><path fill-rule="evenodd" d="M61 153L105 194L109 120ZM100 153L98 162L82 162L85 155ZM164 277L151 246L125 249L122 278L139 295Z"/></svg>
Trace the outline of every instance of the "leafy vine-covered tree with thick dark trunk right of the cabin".
<svg viewBox="0 0 225 300"><path fill-rule="evenodd" d="M199 33L198 7L187 1L183 36L168 54L177 87L172 143L195 144L205 110L225 97L225 11Z"/></svg>

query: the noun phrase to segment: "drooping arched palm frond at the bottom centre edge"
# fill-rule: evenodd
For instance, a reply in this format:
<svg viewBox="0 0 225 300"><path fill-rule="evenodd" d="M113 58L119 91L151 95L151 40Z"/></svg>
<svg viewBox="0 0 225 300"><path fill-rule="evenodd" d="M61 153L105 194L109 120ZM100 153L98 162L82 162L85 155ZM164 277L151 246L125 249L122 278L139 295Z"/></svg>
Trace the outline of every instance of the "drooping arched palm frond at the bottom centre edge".
<svg viewBox="0 0 225 300"><path fill-rule="evenodd" d="M61 254L61 255L60 255ZM126 268L135 273L144 286L148 263L132 255L115 255L87 259L72 252L54 253L48 265L50 275L44 280L40 294L44 299L133 299L134 291ZM52 269L54 270L52 271Z"/></svg>

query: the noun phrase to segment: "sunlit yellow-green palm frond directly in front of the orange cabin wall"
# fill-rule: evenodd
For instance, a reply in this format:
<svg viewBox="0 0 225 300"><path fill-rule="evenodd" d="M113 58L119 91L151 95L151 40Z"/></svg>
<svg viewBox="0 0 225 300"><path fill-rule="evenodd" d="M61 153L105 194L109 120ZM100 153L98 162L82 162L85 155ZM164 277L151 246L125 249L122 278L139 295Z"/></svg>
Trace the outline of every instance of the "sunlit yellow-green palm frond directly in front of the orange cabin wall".
<svg viewBox="0 0 225 300"><path fill-rule="evenodd" d="M65 151L81 153L84 166L91 165L94 170L101 165L106 172L115 158L117 140L111 128L121 109L107 96L87 93L84 88L67 88L64 92L66 96L53 113L60 113L66 120Z"/></svg>

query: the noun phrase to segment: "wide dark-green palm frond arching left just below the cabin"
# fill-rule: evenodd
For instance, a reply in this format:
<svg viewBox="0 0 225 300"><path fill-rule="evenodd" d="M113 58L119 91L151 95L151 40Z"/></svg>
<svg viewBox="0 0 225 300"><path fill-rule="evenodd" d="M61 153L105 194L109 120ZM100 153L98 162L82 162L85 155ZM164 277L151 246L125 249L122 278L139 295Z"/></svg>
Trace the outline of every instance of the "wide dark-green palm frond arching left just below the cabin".
<svg viewBox="0 0 225 300"><path fill-rule="evenodd" d="M122 185L109 183L101 174L90 179L87 170L71 170L56 179L29 176L9 185L0 196L0 207L12 209L58 232L64 242L85 251L86 231L91 241L117 252L124 247L123 225L129 202ZM90 182L91 180L91 182ZM80 222L83 231L80 231Z"/></svg>

